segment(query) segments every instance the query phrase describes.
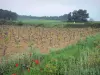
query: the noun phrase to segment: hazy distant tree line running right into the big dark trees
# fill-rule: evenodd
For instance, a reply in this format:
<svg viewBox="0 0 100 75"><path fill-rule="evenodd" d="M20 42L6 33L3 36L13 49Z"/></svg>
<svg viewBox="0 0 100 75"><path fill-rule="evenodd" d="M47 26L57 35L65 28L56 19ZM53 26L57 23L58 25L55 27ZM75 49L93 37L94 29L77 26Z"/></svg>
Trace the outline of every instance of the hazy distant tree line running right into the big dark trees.
<svg viewBox="0 0 100 75"><path fill-rule="evenodd" d="M68 14L64 14L62 16L25 16L25 15L19 15L19 19L44 19L44 20L62 20L67 22L86 22L89 18L89 13L87 13L87 10L79 9L74 10L73 12L70 12Z"/></svg>

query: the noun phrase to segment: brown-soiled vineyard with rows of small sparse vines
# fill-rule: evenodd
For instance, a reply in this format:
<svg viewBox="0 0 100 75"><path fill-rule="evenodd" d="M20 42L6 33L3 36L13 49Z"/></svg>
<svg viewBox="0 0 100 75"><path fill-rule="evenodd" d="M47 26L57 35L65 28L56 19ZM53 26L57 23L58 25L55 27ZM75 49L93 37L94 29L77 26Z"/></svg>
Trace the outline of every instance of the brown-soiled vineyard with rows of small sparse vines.
<svg viewBox="0 0 100 75"><path fill-rule="evenodd" d="M41 53L50 49L64 48L86 36L100 31L99 28L34 28L32 26L0 27L0 56L27 52L31 47Z"/></svg>

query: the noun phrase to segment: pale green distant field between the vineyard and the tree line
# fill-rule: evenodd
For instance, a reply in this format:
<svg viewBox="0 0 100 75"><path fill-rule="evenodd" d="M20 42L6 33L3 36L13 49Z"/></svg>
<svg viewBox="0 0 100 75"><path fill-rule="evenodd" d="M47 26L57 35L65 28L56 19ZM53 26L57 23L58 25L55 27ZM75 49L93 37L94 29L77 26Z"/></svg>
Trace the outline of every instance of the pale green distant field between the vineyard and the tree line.
<svg viewBox="0 0 100 75"><path fill-rule="evenodd" d="M18 20L23 22L24 24L27 25L38 25L42 24L44 27L62 27L62 25L67 25L67 24L74 24L74 22L64 22L60 20L36 20L36 19L30 19L30 20ZM83 24L83 23L75 23L75 24Z"/></svg>

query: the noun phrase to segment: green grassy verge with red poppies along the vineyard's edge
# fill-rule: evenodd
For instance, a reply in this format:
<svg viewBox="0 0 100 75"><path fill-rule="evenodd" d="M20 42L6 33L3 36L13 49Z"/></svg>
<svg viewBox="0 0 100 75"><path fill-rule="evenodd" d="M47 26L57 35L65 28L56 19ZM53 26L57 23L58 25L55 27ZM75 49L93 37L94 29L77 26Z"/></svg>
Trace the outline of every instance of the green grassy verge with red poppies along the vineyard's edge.
<svg viewBox="0 0 100 75"><path fill-rule="evenodd" d="M31 52L22 56L2 60L0 75L100 75L100 34L47 55Z"/></svg>

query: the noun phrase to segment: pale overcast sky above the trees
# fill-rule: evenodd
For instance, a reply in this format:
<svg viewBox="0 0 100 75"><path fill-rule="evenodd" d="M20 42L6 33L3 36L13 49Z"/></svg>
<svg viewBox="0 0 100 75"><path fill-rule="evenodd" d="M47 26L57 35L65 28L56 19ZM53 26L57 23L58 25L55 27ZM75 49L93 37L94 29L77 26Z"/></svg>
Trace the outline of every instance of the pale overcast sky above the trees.
<svg viewBox="0 0 100 75"><path fill-rule="evenodd" d="M32 16L60 16L86 9L91 18L100 21L100 0L0 0L0 9Z"/></svg>

